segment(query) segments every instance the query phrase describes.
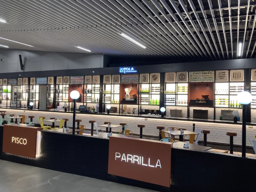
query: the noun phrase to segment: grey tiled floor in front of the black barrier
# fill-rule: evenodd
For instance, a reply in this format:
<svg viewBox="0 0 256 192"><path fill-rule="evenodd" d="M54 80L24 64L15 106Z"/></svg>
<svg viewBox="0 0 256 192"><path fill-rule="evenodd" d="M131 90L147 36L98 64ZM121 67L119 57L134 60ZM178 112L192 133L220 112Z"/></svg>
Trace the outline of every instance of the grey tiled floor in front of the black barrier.
<svg viewBox="0 0 256 192"><path fill-rule="evenodd" d="M153 192L142 188L0 160L1 192Z"/></svg>

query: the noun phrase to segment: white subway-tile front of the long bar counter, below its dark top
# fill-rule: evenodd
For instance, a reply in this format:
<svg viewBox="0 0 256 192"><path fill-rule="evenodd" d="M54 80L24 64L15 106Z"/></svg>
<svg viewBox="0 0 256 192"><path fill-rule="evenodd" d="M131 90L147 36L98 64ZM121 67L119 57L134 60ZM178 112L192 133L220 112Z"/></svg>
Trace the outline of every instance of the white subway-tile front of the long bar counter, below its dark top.
<svg viewBox="0 0 256 192"><path fill-rule="evenodd" d="M67 121L67 126L72 127L72 113L58 113L58 112L49 112L49 111L30 111L30 110L15 110L15 109L7 109L7 114L13 113L15 115L34 115L33 119L34 123L38 122L39 116L45 116L47 119L50 117L56 117L57 119L69 118ZM241 145L242 143L242 126L234 125L234 124L222 124L222 123L208 123L208 122L198 122L198 121L177 121L170 119L152 119L143 117L128 117L128 116L106 116L106 115L94 115L94 114L76 114L76 119L82 119L81 125L85 125L87 129L90 129L91 124L89 124L89 120L95 120L100 124L103 124L104 121L111 121L112 124L119 124L121 122L125 122L128 125L128 129L133 133L140 133L140 129L137 127L137 124L145 124L145 129L143 129L143 135L153 135L158 136L159 132L156 129L156 126L163 125L167 127L184 127L189 131L193 131L193 123L196 124L196 129L209 129L211 131L210 134L207 134L207 141L216 142L216 143L229 143L229 137L226 135L227 131L233 131L237 133L237 136L234 137L234 144ZM26 119L29 121L29 119ZM50 124L49 124L50 125ZM121 128L120 128L121 129ZM119 128L112 129L113 131L120 131ZM246 143L250 146L249 139L252 139L256 135L256 126L252 126L249 128L247 126L247 140ZM203 135L201 135L200 140L203 140Z"/></svg>

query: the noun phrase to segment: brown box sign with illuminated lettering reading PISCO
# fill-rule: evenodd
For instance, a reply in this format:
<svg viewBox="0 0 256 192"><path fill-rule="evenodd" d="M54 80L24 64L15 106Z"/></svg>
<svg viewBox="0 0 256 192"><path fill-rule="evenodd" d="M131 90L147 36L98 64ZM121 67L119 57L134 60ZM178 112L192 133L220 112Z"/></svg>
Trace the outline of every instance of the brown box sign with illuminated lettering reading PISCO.
<svg viewBox="0 0 256 192"><path fill-rule="evenodd" d="M36 158L37 131L41 131L41 128L16 124L4 125L3 152Z"/></svg>

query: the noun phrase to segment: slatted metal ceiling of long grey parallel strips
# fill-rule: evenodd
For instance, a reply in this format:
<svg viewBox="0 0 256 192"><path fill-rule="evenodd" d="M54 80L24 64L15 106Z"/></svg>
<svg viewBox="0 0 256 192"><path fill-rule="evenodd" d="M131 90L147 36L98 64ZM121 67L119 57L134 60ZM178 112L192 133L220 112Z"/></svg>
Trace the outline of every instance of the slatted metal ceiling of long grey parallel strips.
<svg viewBox="0 0 256 192"><path fill-rule="evenodd" d="M255 57L255 0L0 0L1 45L117 57ZM143 44L142 48L121 33ZM239 44L242 52L239 54Z"/></svg>

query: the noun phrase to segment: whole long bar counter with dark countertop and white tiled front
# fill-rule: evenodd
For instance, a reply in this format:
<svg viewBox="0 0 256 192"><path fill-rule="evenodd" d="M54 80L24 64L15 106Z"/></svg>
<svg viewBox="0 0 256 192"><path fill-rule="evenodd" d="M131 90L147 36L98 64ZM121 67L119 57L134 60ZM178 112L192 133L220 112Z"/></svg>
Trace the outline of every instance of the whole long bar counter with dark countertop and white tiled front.
<svg viewBox="0 0 256 192"><path fill-rule="evenodd" d="M25 116L35 116L33 122L38 124L38 117L45 116L47 119L50 117L55 117L57 119L68 118L67 127L72 127L73 113L64 111L41 111L41 110L24 110L24 109L9 109L1 108L7 111L7 114L25 115ZM156 126L177 127L185 128L189 131L193 131L193 124L195 124L195 129L207 129L210 131L207 134L207 142L212 143L224 143L229 144L230 138L226 135L226 132L236 132L237 136L234 137L234 145L241 145L242 142L242 124L241 122L233 122L226 120L211 120L211 119L195 119L195 118L178 118L178 117L156 117L156 116L145 116L145 115L132 115L132 114L114 114L114 113L76 113L76 119L81 119L81 125L85 125L87 129L91 128L90 120L95 120L100 124L104 124L104 121L111 121L112 124L119 125L119 123L127 123L129 130L133 134L140 134L140 128L137 127L138 124L145 124L143 128L143 135L158 137L159 130ZM27 119L28 121L28 119ZM105 129L104 129L105 130ZM113 132L119 132L120 128L113 128ZM256 135L256 124L247 123L247 146L251 146L249 139L252 139ZM203 141L203 135L200 137L199 141Z"/></svg>

